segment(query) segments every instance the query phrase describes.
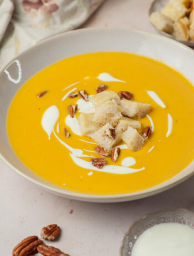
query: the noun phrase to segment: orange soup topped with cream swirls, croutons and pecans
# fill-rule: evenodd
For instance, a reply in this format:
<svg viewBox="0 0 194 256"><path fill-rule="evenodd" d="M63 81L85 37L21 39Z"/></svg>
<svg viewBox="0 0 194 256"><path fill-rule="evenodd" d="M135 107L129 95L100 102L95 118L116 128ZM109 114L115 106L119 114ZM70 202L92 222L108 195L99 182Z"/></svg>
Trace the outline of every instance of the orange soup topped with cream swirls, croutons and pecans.
<svg viewBox="0 0 194 256"><path fill-rule="evenodd" d="M22 163L49 183L124 194L169 180L191 163L193 109L193 86L163 63L87 53L30 78L9 107L7 132Z"/></svg>

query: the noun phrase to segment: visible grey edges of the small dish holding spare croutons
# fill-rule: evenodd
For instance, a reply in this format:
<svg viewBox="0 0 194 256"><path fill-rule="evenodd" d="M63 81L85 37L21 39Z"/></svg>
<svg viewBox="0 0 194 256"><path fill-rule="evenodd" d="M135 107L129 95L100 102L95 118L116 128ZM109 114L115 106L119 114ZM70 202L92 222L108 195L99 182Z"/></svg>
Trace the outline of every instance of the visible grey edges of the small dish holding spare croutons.
<svg viewBox="0 0 194 256"><path fill-rule="evenodd" d="M169 3L169 0L155 0L154 2L152 2L151 6L150 6L150 9L149 9L149 16L152 14L152 12L161 12L162 9L166 6L167 3ZM154 26L154 25L152 24L152 26ZM172 35L164 32L164 31L160 31L155 26L154 26L154 28L161 35L166 36L166 37L170 37L170 38L172 38L172 39L174 39L174 40L176 40L178 42L184 43L185 45L194 48L194 42L193 41L180 40L180 39L177 39L177 38L173 37Z"/></svg>

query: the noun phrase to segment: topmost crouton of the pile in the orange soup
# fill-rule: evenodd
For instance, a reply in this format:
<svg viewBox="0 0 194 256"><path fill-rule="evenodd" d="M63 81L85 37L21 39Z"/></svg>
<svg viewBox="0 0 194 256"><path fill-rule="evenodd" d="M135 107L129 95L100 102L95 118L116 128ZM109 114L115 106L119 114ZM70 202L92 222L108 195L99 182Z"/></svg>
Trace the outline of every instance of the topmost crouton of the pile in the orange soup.
<svg viewBox="0 0 194 256"><path fill-rule="evenodd" d="M91 97L89 97L89 101L93 104L94 107L98 107L103 104L105 101L115 100L116 102L120 102L120 97L114 91L103 91L99 92Z"/></svg>

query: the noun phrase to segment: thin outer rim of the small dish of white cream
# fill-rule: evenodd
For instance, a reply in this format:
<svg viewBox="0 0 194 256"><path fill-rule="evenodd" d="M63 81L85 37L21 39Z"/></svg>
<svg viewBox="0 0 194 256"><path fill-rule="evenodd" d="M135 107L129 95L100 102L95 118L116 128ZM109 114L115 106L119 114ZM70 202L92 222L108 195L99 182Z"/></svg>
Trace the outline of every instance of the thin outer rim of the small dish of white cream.
<svg viewBox="0 0 194 256"><path fill-rule="evenodd" d="M194 212L193 212L193 211L187 210L187 209L185 209L185 208L177 208L177 209L165 209L165 210L152 211L151 213L145 214L145 215L142 216L140 219L135 220L135 221L129 226L128 230L125 232L125 234L124 234L124 236L123 236L123 238L122 238L121 245L120 245L120 250L119 250L120 256L124 256L124 255L122 254L122 247L123 247L124 239L125 239L126 235L127 235L128 233L130 233L130 230L131 230L137 223L140 223L142 220L145 220L145 219L147 219L147 218L149 218L149 217L152 217L152 216L157 216L157 215L159 215L159 214L176 213L176 212L177 212L177 213L180 212L181 214L182 214L182 213L191 214L191 215L194 216ZM156 225L157 225L157 224L156 224ZM187 224L185 224L185 225L187 225ZM155 225L154 225L154 226L155 226ZM145 231L144 231L144 232L145 232ZM144 233L144 232L143 232L143 233Z"/></svg>

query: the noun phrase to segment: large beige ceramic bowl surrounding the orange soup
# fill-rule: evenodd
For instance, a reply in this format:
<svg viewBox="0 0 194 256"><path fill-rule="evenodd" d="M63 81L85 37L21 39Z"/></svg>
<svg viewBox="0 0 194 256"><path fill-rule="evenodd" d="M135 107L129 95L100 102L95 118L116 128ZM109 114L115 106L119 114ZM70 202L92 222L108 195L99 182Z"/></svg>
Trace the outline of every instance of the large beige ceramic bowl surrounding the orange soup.
<svg viewBox="0 0 194 256"><path fill-rule="evenodd" d="M80 29L46 40L12 60L0 71L0 156L17 173L52 193L84 201L128 201L160 193L193 174L194 161L170 180L150 189L120 195L88 195L58 188L29 171L11 149L7 138L6 115L13 96L30 77L54 62L88 52L131 52L162 61L176 68L194 84L194 52L162 36L129 29ZM54 75L54 74L51 74ZM25 106L24 106L25 107ZM194 136L191 134L191 136ZM173 150L173 149L172 149Z"/></svg>

